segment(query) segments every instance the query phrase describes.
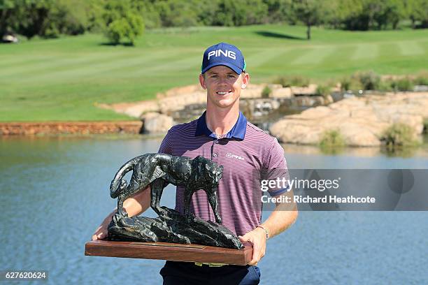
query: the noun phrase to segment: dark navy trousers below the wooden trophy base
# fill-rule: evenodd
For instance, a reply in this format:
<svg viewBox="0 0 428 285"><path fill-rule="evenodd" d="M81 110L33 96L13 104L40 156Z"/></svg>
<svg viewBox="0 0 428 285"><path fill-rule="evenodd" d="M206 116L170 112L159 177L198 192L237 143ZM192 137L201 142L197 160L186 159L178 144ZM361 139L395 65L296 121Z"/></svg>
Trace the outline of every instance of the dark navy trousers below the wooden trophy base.
<svg viewBox="0 0 428 285"><path fill-rule="evenodd" d="M250 265L209 267L190 262L166 261L160 275L164 285L253 285L260 282L260 270Z"/></svg>

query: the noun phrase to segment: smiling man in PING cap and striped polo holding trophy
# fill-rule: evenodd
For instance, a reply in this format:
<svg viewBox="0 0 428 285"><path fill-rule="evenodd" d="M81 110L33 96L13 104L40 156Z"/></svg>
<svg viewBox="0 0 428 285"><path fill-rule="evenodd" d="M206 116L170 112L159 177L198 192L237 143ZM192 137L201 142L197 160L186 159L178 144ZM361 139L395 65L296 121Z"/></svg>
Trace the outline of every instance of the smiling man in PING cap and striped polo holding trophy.
<svg viewBox="0 0 428 285"><path fill-rule="evenodd" d="M283 148L276 138L250 124L239 111L241 90L249 81L243 54L237 47L227 43L208 47L199 75L201 87L207 90L206 112L190 123L173 126L159 152L192 159L202 155L224 167L217 192L222 224L236 233L241 242L252 244L252 260L246 266L166 261L160 272L164 284L259 284L260 271L255 265L264 256L266 240L284 231L297 218L294 204L277 203L269 218L260 224L261 191L255 187L255 177L267 173L264 178L276 180L278 173L282 177L288 173ZM176 210L180 212L184 212L183 190L177 187ZM269 193L290 196L290 190L277 187ZM140 214L149 205L148 189L124 202L129 217ZM114 212L93 239L106 237ZM204 191L194 193L190 212L215 221Z"/></svg>

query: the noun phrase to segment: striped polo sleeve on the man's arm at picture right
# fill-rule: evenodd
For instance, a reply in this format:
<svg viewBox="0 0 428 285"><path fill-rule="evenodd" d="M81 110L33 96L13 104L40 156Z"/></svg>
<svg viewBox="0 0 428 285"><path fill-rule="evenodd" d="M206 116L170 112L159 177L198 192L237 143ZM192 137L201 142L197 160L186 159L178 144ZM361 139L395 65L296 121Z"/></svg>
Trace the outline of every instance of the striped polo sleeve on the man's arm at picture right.
<svg viewBox="0 0 428 285"><path fill-rule="evenodd" d="M287 161L284 156L284 149L279 144L278 140L274 138L273 144L269 149L269 153L264 161L264 180L268 182L274 180L267 190L270 196L278 196L282 193L290 191L290 173L287 168Z"/></svg>

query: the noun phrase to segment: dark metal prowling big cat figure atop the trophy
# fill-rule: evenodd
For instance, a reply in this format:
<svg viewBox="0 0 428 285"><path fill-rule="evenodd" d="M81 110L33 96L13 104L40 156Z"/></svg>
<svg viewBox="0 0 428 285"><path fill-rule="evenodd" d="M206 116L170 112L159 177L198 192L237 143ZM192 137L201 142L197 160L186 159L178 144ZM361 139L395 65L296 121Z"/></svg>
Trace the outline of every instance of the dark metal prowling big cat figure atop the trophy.
<svg viewBox="0 0 428 285"><path fill-rule="evenodd" d="M131 170L133 173L127 184L123 177ZM222 220L217 211L217 185L222 177L222 170L222 166L218 166L203 156L190 159L169 154L144 154L124 163L117 171L110 184L110 196L118 198L117 212L122 216L127 216L123 211L124 200L150 184L150 207L161 216L164 213L164 209L159 206L162 192L171 183L185 187L185 217L188 217L193 193L204 189L208 202L213 208L215 221L221 224Z"/></svg>

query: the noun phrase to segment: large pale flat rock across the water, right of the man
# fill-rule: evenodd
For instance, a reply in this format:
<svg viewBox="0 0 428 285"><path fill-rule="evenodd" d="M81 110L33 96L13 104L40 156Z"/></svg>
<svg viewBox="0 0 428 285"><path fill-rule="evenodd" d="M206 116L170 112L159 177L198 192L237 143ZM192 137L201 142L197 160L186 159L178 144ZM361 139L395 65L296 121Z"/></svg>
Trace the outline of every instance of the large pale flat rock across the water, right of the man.
<svg viewBox="0 0 428 285"><path fill-rule="evenodd" d="M415 136L420 135L424 118L428 118L428 93L373 94L285 116L269 130L281 142L316 145L322 133L336 129L347 145L376 147L394 123L407 124Z"/></svg>

